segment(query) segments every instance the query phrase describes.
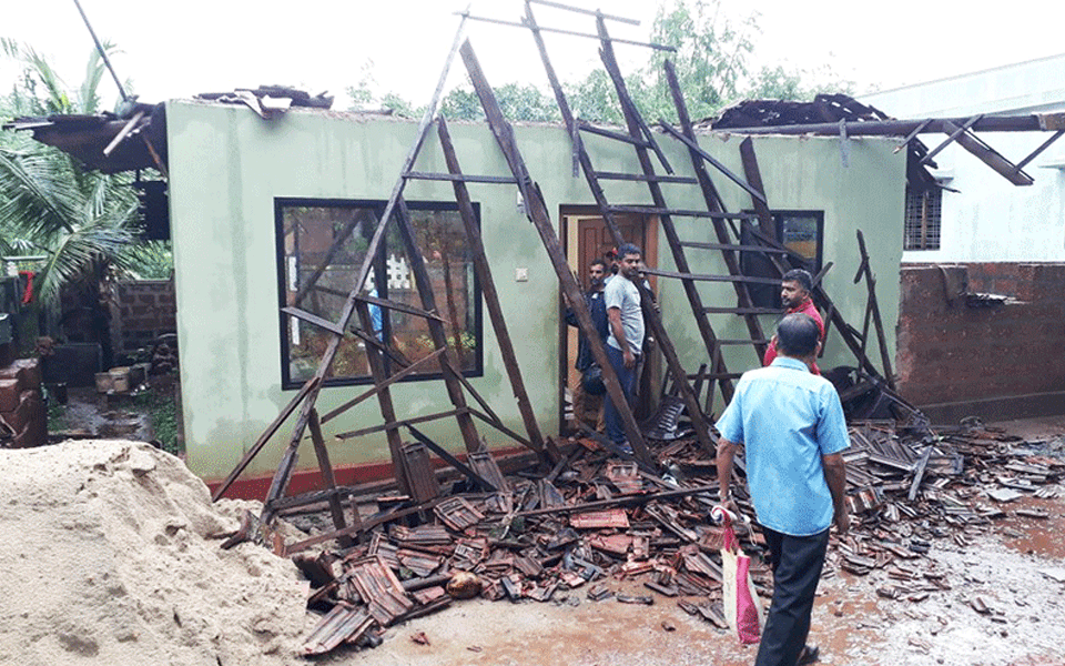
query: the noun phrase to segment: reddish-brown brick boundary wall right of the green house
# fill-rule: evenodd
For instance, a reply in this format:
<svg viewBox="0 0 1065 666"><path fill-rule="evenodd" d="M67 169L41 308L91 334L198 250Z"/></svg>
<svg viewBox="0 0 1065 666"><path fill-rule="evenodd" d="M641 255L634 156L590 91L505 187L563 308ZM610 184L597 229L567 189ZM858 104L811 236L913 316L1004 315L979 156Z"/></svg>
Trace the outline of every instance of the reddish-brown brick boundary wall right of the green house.
<svg viewBox="0 0 1065 666"><path fill-rule="evenodd" d="M1016 396L1065 392L1065 264L904 265L901 280L897 372L907 400L1012 417L1021 414L996 401L1023 407L1036 398ZM966 289L1018 302L972 307L957 295Z"/></svg>

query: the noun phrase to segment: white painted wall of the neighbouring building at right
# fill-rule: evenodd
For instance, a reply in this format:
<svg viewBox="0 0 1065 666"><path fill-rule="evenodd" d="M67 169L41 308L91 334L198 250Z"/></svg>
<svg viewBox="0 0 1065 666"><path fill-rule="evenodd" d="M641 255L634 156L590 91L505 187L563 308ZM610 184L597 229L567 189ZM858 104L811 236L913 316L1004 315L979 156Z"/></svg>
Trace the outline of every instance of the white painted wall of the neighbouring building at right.
<svg viewBox="0 0 1065 666"><path fill-rule="evenodd" d="M900 119L1018 115L1065 111L1065 53L868 94L862 101ZM1048 132L981 135L1014 163ZM930 149L946 137L923 134ZM1065 138L1025 171L1015 186L975 155L952 144L935 157L944 184L940 250L909 251L903 262L1065 261Z"/></svg>

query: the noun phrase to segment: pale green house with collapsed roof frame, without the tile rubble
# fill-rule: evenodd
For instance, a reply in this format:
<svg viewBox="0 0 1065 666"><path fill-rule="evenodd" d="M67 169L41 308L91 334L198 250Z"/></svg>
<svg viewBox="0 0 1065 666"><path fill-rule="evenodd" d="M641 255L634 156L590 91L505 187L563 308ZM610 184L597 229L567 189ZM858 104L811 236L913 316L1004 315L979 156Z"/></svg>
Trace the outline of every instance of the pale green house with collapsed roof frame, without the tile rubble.
<svg viewBox="0 0 1065 666"><path fill-rule="evenodd" d="M600 40L612 52L605 28ZM818 279L829 322L821 365L896 389L907 191L934 186L922 164L933 154L914 140L949 121L892 121L830 95L740 105L702 127L674 89L681 122L651 129L618 75L628 131L568 109L564 125L514 127L494 114L468 43L463 59L488 123L455 123L440 143L427 139L443 125L430 122L435 104L417 123L272 88L122 119L14 124L42 140L65 134L64 149L92 153L90 164L166 175L182 416L196 474L221 482L229 473L223 491L241 477L235 492L262 496L277 470L274 500L317 487L334 466L335 484L377 478L397 462L399 430L413 435L415 425L437 453L552 447L576 339L562 316L572 299L558 284L579 289L570 271L584 274L619 241L643 248L661 310L637 417L672 397L706 432L731 383L760 363L780 314L782 261ZM95 144L108 145L110 162L98 164ZM393 215L406 231L381 224ZM858 377L855 389L869 385ZM473 417L491 427L474 428ZM308 425L321 446L304 436ZM274 435L290 426L285 450Z"/></svg>

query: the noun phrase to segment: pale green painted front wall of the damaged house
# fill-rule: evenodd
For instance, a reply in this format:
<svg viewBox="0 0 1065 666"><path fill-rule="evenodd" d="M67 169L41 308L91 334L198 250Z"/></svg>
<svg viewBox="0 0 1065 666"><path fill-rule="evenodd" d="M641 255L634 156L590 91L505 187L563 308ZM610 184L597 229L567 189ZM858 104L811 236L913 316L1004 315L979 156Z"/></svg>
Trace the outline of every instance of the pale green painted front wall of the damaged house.
<svg viewBox="0 0 1065 666"><path fill-rule="evenodd" d="M265 426L294 395L281 390L275 256L274 198L385 200L392 192L417 124L379 117L292 110L264 121L245 107L191 101L168 103L170 202L178 291L181 381L190 468L206 478L227 474ZM486 127L453 124L452 134L463 171L506 174L506 164ZM518 141L529 170L556 213L560 206L591 204L582 179L571 178L569 141L552 127L519 127ZM718 159L742 173L739 138L702 140ZM632 151L590 138L589 150L600 170L636 171ZM679 173L688 173L687 154L663 141ZM755 139L770 204L774 209L823 210L824 260L835 266L826 278L844 315L859 322L863 291L851 279L858 266L854 229L861 228L873 252L879 295L892 335L897 317L899 262L902 255L905 155L892 154L893 143L852 141L849 168L832 139L764 137ZM423 171L445 171L435 134L417 164ZM720 179L718 186L730 210L750 206L742 190ZM677 208L702 208L694 188L669 185ZM480 203L481 229L510 334L529 397L545 434L557 431L558 418L558 286L547 254L532 225L516 206L516 190L505 185L470 185ZM412 182L409 201L453 201L447 183ZM607 195L618 203L649 201L646 186L610 183ZM557 222L557 220L556 220ZM710 240L709 222L682 221L691 240ZM700 232L699 229L706 229ZM672 269L663 239L660 268ZM718 254L691 255L693 269L723 271ZM515 282L515 268L528 269L528 282ZM734 304L731 287L702 287L707 304ZM701 361L698 333L678 283L661 281L663 315L674 344L693 370ZM712 320L721 337L743 337L738 317ZM772 320L767 319L767 326ZM485 374L471 379L508 425L523 431L491 327L485 317ZM729 350L729 367L755 364L750 347ZM852 364L845 349L830 339L823 366ZM364 386L326 389L321 411L351 398ZM393 390L400 417L449 408L443 383L402 383ZM339 442L331 434L381 422L375 401L367 401L328 423L334 464L387 460L384 434ZM454 421L426 424L434 440L463 450ZM246 474L268 474L287 442L290 424L256 457ZM487 427L493 444L513 445ZM300 466L313 467L310 445Z"/></svg>

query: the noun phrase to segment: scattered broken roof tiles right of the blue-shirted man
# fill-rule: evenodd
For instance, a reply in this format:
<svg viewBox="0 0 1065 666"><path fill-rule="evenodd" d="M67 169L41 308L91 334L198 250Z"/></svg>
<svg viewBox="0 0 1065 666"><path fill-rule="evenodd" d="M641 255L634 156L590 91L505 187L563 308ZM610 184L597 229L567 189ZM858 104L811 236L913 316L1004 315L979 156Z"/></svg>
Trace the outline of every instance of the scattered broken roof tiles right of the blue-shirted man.
<svg viewBox="0 0 1065 666"><path fill-rule="evenodd" d="M1024 496L1052 497L1065 475L1065 460L1017 446L1018 437L995 428L958 427L914 436L892 423L851 427L848 505L858 527L830 562L855 575L883 569L896 584L881 587L886 598L923 601L949 589L942 574L915 563L937 539L965 547L1007 516L1004 504ZM1028 443L1038 444L1038 443ZM1046 518L1018 507L1016 516ZM1015 535L1014 535L1015 536Z"/></svg>

